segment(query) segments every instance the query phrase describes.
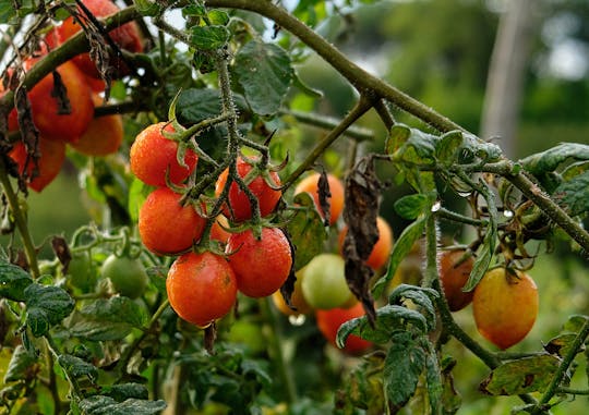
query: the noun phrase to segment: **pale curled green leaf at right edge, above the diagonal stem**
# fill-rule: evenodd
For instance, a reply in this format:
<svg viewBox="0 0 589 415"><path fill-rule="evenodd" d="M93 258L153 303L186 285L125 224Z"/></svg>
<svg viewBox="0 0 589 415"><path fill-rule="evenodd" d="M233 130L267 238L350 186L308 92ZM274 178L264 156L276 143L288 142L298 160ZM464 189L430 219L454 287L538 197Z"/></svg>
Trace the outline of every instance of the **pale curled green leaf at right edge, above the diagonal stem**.
<svg viewBox="0 0 589 415"><path fill-rule="evenodd" d="M519 160L519 163L533 175L541 176L570 160L589 160L589 145L563 143L545 151L528 156Z"/></svg>

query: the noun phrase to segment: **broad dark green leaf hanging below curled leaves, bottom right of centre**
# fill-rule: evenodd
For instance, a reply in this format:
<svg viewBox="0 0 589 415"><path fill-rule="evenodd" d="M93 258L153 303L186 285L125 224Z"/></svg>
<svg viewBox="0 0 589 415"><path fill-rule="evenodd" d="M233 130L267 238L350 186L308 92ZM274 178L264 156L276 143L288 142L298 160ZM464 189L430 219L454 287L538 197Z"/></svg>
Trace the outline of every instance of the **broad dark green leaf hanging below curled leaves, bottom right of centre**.
<svg viewBox="0 0 589 415"><path fill-rule="evenodd" d="M393 335L383 371L385 393L395 407L404 406L416 392L426 353L411 333Z"/></svg>

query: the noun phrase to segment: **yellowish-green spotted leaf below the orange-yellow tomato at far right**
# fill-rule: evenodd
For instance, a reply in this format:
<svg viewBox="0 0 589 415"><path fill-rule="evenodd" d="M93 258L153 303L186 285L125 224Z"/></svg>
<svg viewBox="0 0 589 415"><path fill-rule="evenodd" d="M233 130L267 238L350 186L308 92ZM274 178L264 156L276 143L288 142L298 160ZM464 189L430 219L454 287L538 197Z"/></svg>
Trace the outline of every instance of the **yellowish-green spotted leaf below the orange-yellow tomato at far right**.
<svg viewBox="0 0 589 415"><path fill-rule="evenodd" d="M561 361L551 355L525 357L495 368L480 385L491 395L516 395L546 389Z"/></svg>

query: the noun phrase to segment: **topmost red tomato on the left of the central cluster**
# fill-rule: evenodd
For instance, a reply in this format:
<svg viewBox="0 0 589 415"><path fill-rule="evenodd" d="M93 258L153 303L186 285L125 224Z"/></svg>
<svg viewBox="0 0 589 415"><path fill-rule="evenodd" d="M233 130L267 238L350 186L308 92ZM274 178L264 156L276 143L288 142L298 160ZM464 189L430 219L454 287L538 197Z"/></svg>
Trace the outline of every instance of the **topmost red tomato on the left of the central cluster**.
<svg viewBox="0 0 589 415"><path fill-rule="evenodd" d="M170 182L180 184L194 171L199 160L196 152L189 149L184 155L187 167L180 166L178 143L166 138L163 130L173 132L173 127L164 122L147 126L135 137L129 154L133 174L152 186L165 186L168 170Z"/></svg>

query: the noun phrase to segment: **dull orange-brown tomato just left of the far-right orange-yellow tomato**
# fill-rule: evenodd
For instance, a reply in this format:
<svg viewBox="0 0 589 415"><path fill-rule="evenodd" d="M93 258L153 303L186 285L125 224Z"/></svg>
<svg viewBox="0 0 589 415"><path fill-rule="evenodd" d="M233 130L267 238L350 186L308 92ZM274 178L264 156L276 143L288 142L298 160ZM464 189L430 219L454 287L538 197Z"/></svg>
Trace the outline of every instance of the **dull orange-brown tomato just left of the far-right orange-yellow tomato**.
<svg viewBox="0 0 589 415"><path fill-rule="evenodd" d="M450 312L458 312L472 302L472 291L464 292L474 259L472 255L462 260L465 249L444 251L438 256L440 282Z"/></svg>

